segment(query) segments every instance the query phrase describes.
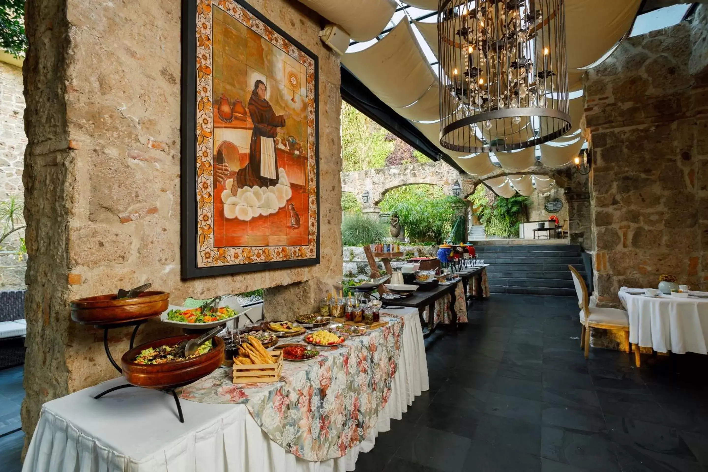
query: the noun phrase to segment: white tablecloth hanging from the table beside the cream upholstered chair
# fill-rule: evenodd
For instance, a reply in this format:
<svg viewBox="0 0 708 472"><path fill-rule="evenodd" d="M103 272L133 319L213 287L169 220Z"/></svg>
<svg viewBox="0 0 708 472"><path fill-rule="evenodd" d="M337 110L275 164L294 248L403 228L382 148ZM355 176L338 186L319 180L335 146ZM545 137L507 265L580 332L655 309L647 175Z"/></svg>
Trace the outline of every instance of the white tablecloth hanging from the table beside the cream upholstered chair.
<svg viewBox="0 0 708 472"><path fill-rule="evenodd" d="M657 352L708 354L708 299L619 292L629 313L629 342Z"/></svg>

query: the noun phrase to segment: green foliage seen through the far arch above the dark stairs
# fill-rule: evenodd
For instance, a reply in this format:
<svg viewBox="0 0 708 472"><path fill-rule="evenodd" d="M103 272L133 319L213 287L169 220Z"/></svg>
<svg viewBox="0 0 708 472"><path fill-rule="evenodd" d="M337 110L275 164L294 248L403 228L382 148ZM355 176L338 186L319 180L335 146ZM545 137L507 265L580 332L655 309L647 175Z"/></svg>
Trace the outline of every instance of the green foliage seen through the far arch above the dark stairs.
<svg viewBox="0 0 708 472"><path fill-rule="evenodd" d="M474 212L484 224L487 235L518 238L519 222L527 197L518 194L510 198L499 197L485 185L479 185L469 200L472 200Z"/></svg>

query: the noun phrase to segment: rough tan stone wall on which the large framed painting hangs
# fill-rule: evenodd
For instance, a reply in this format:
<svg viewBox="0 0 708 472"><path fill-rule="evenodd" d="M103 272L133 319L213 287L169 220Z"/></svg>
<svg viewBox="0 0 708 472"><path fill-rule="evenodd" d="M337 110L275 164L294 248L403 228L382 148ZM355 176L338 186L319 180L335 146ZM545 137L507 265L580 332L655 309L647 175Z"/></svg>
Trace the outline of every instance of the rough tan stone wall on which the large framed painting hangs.
<svg viewBox="0 0 708 472"><path fill-rule="evenodd" d="M116 375L102 333L70 321L70 300L142 282L173 303L278 287L265 292L265 316L290 316L314 309L341 274L338 57L318 38L319 16L301 4L249 3L319 57L321 263L185 282L180 2L114 0L107 11L103 2L28 0L27 439L42 403ZM169 333L157 321L141 330L137 343ZM116 355L129 337L130 328L113 330Z"/></svg>

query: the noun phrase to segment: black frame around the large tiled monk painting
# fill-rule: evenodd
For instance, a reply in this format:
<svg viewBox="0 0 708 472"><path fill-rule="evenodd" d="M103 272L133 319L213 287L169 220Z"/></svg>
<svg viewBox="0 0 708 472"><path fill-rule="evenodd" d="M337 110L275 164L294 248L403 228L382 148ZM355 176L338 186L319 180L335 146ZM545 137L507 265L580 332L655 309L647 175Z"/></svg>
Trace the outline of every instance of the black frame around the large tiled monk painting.
<svg viewBox="0 0 708 472"><path fill-rule="evenodd" d="M217 265L198 267L198 225L197 225L197 171L196 159L196 103L197 103L197 4L198 0L182 0L182 67L181 67L181 277L183 280L196 277L257 272L262 270L303 267L320 263L320 186L319 186L319 58L299 41L285 33L261 12L244 0L233 0L245 8L258 20L272 28L283 38L295 45L314 61L314 149L316 182L316 236L314 258L275 260L265 263ZM212 5L212 8L217 8ZM213 203L212 203L213 205Z"/></svg>

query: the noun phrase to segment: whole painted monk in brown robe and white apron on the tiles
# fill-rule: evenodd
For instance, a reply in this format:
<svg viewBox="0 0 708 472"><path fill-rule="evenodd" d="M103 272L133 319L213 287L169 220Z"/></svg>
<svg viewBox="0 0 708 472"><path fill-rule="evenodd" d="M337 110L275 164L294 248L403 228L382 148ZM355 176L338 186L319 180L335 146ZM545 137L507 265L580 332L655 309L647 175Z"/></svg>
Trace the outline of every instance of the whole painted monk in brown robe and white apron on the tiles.
<svg viewBox="0 0 708 472"><path fill-rule="evenodd" d="M275 154L275 137L278 128L285 126L290 113L275 115L273 107L265 100L265 84L257 80L249 100L249 115L253 122L249 163L236 174L239 188L259 185L268 187L278 183L278 156Z"/></svg>

